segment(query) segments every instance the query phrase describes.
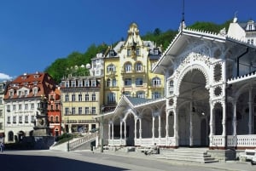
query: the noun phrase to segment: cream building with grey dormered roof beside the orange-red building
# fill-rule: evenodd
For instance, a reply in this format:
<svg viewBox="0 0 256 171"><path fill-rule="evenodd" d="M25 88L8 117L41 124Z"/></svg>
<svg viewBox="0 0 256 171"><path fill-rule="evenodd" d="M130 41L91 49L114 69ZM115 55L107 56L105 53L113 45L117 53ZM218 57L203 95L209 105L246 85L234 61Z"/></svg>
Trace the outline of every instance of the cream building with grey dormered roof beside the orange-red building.
<svg viewBox="0 0 256 171"><path fill-rule="evenodd" d="M75 77L61 81L62 127L67 133L86 134L99 128L96 116L102 105L102 77Z"/></svg>

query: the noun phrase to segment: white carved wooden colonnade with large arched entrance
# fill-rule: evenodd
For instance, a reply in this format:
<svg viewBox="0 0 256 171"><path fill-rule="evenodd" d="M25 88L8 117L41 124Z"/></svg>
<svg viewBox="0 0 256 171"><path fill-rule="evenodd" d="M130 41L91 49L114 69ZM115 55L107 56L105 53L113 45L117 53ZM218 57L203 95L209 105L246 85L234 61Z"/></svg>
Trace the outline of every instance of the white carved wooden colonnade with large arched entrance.
<svg viewBox="0 0 256 171"><path fill-rule="evenodd" d="M166 97L123 95L103 115L108 145L255 148L256 47L230 31L183 25L153 69L165 77Z"/></svg>

